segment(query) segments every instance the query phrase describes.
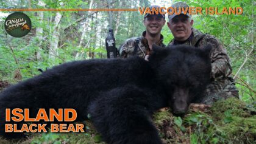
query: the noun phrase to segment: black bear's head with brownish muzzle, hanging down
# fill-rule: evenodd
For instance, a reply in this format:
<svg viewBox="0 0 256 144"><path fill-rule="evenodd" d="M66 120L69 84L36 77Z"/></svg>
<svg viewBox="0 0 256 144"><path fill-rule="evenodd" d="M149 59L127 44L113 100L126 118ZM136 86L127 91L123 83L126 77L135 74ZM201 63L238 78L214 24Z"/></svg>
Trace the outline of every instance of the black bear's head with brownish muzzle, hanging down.
<svg viewBox="0 0 256 144"><path fill-rule="evenodd" d="M204 95L210 83L211 45L198 49L191 46L153 47L149 63L158 83L168 97L174 115L184 115L192 100Z"/></svg>

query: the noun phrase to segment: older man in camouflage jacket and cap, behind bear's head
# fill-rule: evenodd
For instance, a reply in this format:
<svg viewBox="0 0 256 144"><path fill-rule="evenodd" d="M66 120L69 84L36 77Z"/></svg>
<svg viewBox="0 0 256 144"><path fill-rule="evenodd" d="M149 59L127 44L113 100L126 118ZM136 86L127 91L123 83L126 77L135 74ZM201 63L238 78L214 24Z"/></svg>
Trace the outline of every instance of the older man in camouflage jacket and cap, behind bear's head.
<svg viewBox="0 0 256 144"><path fill-rule="evenodd" d="M177 8L179 12L179 7L186 9L188 5L184 2L176 2L171 7ZM186 15L183 12L180 15L175 15L174 13L173 15L168 15L168 19L168 27L174 36L174 39L172 39L168 46L180 44L199 48L203 48L206 44L212 44L213 46L210 54L210 58L212 59L212 82L207 86L205 97L202 97L197 102L211 105L214 101L222 98L238 97L235 82L230 77L232 68L230 66L229 56L218 39L194 29L192 27L194 21L191 19L189 13L186 13Z"/></svg>

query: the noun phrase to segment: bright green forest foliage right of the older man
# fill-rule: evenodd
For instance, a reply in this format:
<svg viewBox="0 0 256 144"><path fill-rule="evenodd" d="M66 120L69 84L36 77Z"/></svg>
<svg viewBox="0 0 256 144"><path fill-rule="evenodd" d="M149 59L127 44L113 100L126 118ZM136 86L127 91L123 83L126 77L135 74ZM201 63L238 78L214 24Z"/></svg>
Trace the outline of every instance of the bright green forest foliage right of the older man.
<svg viewBox="0 0 256 144"><path fill-rule="evenodd" d="M240 91L241 98L247 103L255 101L255 58L254 54L246 56L255 43L255 10L253 1L186 1L190 6L202 7L243 7L242 15L193 15L196 29L204 33L216 36L224 47L232 61L233 74L240 69L245 57L248 58L236 78L236 86ZM254 12L254 13L252 13ZM249 85L251 89L248 88ZM254 91L252 91L254 89Z"/></svg>

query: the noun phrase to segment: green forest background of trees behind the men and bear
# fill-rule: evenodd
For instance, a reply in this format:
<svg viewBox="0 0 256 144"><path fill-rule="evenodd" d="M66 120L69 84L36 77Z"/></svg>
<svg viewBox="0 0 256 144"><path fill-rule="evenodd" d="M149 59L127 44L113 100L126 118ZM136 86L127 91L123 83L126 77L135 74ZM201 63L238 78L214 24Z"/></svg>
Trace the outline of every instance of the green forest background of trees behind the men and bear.
<svg viewBox="0 0 256 144"><path fill-rule="evenodd" d="M171 7L175 1L112 0L112 9L138 9L158 4ZM243 7L242 15L193 15L194 28L216 36L232 60L232 75L240 99L255 104L255 2L185 1L191 7ZM107 0L3 0L0 9L108 9ZM109 27L108 12L24 12L32 21L30 33L22 38L7 35L5 18L13 12L0 12L0 80L15 83L40 74L57 64L74 60L106 58L105 38ZM145 30L139 12L112 12L116 47L127 38ZM168 21L166 16L166 21ZM173 38L167 24L164 43Z"/></svg>

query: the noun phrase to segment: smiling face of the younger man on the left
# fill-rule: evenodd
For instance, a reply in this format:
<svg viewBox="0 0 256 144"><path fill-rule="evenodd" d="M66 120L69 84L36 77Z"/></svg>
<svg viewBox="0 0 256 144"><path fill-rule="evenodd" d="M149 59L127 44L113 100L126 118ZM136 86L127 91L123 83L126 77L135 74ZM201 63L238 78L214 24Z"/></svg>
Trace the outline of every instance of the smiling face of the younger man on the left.
<svg viewBox="0 0 256 144"><path fill-rule="evenodd" d="M157 35L165 25L165 18L160 15L148 15L143 22L149 35Z"/></svg>

